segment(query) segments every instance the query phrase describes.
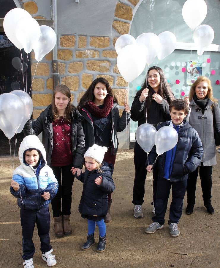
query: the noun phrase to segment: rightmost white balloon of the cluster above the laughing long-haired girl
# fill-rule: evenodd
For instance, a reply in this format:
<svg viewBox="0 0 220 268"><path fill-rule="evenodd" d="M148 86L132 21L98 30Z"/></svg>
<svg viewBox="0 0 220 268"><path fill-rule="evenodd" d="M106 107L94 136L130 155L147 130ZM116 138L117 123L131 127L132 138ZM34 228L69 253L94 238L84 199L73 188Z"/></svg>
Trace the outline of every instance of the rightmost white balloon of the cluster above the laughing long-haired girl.
<svg viewBox="0 0 220 268"><path fill-rule="evenodd" d="M174 51L177 41L175 35L168 31L160 33L158 37L160 39L161 48L157 57L159 60L162 60Z"/></svg>

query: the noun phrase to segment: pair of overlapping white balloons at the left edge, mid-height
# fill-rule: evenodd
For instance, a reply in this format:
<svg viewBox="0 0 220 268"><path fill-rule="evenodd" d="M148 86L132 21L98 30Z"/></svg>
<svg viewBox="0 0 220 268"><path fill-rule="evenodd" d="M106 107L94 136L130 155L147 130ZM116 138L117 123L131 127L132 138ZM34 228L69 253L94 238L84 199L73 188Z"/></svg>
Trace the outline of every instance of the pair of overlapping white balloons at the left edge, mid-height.
<svg viewBox="0 0 220 268"><path fill-rule="evenodd" d="M14 90L0 95L0 129L7 138L23 130L32 112L33 101L26 92Z"/></svg>

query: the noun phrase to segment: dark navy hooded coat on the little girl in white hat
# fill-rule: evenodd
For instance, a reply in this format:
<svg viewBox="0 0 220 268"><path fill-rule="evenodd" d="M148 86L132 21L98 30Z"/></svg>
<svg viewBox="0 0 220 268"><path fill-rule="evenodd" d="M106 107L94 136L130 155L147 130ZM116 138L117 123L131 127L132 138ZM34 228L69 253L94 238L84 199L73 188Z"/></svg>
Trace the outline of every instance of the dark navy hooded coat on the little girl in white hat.
<svg viewBox="0 0 220 268"><path fill-rule="evenodd" d="M86 171L79 177L75 177L83 182L83 193L79 204L79 212L86 219L100 221L105 218L108 210L108 194L112 193L115 185L111 176L113 165L106 162L102 163L102 172L97 169L89 172ZM102 183L97 185L94 180L101 176Z"/></svg>

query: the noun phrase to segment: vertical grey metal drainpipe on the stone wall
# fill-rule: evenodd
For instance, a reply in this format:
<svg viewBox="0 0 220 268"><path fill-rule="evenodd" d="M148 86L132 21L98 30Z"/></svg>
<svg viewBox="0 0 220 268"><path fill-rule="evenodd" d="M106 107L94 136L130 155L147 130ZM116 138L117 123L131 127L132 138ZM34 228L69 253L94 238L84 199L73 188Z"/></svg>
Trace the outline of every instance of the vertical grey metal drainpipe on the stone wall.
<svg viewBox="0 0 220 268"><path fill-rule="evenodd" d="M54 32L56 33L57 38L57 1L53 0L52 3L52 19L54 24ZM58 85L58 62L57 62L57 42L53 48L53 60L52 60L52 77L53 77L53 89Z"/></svg>

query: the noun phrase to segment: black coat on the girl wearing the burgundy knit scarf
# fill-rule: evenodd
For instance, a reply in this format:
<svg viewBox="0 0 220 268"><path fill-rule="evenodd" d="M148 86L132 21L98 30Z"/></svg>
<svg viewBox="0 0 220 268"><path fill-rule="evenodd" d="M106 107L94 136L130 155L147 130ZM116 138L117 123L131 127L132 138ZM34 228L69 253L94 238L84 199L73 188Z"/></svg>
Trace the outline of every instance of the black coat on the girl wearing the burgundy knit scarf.
<svg viewBox="0 0 220 268"><path fill-rule="evenodd" d="M119 107L118 103L114 102L110 112L112 120L112 131L111 133L106 133L106 135L111 135L112 155L115 155L116 152L118 151L117 132L123 131L126 128L126 125L128 125L130 121L130 113L126 113L126 111L124 110L122 116L120 117L118 107ZM92 115L88 110L86 110L86 108L82 108L82 110L80 110L79 112L81 115L84 116L82 124L85 133L85 151L86 151L88 147L91 147L93 144L95 144Z"/></svg>

